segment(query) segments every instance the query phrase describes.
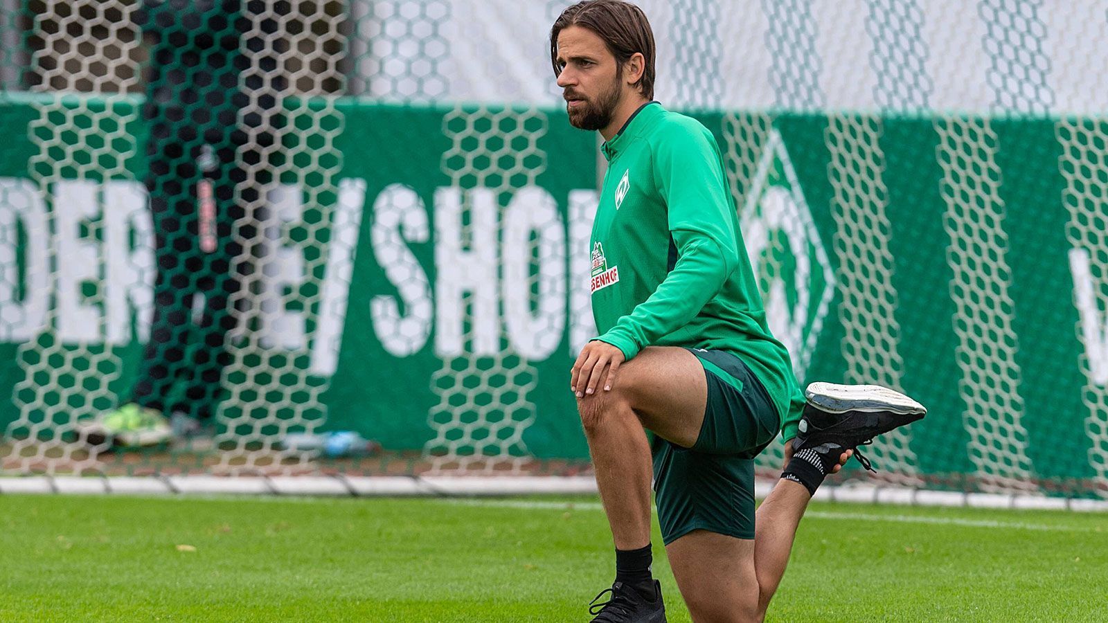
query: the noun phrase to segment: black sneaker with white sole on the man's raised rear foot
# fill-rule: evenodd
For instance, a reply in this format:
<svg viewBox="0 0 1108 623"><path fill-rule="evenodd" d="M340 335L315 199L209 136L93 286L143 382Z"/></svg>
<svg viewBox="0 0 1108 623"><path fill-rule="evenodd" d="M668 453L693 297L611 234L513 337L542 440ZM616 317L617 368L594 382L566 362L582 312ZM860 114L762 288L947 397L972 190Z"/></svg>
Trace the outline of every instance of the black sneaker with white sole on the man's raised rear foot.
<svg viewBox="0 0 1108 623"><path fill-rule="evenodd" d="M927 413L923 405L899 391L878 385L835 385L813 382L804 391L808 405L800 419L794 451L814 452L823 462L847 450L865 469L876 472L869 459L858 451L873 438L922 419ZM813 457L814 458L814 457Z"/></svg>

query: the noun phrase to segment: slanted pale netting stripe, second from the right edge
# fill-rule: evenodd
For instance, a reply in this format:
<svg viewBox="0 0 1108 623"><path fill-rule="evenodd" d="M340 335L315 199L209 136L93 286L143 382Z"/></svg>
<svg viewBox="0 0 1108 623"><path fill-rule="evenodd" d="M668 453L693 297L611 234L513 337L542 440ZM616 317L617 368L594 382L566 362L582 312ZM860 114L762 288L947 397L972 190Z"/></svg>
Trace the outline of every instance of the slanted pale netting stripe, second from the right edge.
<svg viewBox="0 0 1108 623"><path fill-rule="evenodd" d="M986 80L996 113L1042 113L1054 103L1045 84L1039 4L1004 0L978 4L982 45L991 60ZM1016 361L1019 345L1013 327L1005 202L999 193L1003 177L996 164L999 141L987 119L936 119L935 131L941 139L937 159L947 207L943 223L951 236L947 262L954 272L951 297L957 308L954 330L970 458L986 489L1034 489L1019 392L1023 374Z"/></svg>

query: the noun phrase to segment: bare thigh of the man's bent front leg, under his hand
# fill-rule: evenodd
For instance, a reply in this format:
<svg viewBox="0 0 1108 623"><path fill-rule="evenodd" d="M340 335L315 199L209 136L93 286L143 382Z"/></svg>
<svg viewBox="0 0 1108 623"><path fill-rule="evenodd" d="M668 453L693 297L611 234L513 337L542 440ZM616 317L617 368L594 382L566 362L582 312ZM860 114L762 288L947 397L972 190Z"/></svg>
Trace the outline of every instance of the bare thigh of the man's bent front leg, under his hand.
<svg viewBox="0 0 1108 623"><path fill-rule="evenodd" d="M582 408L591 401L626 400L643 426L663 439L686 448L696 443L708 404L708 381L696 355L676 346L649 346L616 375L611 392L581 399Z"/></svg>

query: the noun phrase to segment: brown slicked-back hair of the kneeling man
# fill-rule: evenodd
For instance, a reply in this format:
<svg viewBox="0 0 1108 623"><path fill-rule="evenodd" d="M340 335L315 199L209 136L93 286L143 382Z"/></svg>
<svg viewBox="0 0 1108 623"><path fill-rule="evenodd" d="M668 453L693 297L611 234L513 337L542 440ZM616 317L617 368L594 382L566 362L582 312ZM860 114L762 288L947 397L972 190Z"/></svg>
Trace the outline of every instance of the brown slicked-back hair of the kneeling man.
<svg viewBox="0 0 1108 623"><path fill-rule="evenodd" d="M571 25L587 28L603 39L616 58L616 71L623 71L624 63L635 52L642 52L646 67L635 86L647 100L654 99L654 32L643 9L623 0L585 0L562 11L551 28L554 75L562 73L557 67L557 35Z"/></svg>

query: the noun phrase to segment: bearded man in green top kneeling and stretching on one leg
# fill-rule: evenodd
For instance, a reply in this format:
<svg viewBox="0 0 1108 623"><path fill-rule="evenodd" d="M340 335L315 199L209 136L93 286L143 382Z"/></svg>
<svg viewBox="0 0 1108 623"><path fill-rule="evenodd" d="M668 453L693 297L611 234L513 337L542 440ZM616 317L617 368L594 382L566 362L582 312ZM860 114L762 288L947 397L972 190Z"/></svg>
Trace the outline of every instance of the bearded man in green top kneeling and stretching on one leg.
<svg viewBox="0 0 1108 623"><path fill-rule="evenodd" d="M570 122L598 130L608 161L589 244L601 336L571 378L616 547L616 581L591 612L665 621L650 575L650 430L658 522L693 619L760 621L823 478L925 410L875 386L812 384L806 401L767 327L716 142L652 101L640 9L574 4L550 42ZM756 514L753 459L778 432L784 471Z"/></svg>

